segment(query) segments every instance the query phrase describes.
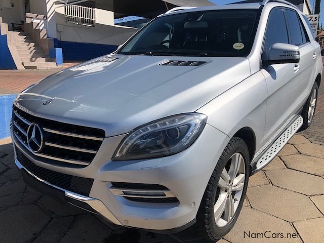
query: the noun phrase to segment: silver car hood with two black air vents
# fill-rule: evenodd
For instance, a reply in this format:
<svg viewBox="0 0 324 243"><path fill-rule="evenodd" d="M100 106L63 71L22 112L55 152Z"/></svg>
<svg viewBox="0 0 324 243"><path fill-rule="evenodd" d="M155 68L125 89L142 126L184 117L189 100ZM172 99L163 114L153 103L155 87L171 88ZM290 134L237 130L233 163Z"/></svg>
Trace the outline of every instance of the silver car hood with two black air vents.
<svg viewBox="0 0 324 243"><path fill-rule="evenodd" d="M247 58L106 57L43 79L18 95L15 104L39 117L115 136L155 119L194 112L251 75ZM170 60L206 63L159 65Z"/></svg>

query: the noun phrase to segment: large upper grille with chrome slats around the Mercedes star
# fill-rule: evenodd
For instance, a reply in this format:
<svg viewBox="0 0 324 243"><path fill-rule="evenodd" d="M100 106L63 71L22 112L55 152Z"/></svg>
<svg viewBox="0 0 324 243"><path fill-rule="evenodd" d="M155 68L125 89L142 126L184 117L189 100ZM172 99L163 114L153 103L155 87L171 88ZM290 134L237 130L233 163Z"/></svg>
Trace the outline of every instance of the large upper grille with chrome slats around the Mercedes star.
<svg viewBox="0 0 324 243"><path fill-rule="evenodd" d="M13 134L32 156L43 158L54 165L86 167L95 157L104 137L101 129L60 123L33 116L16 106L12 115ZM27 143L27 131L31 124L41 127L43 148L33 152Z"/></svg>

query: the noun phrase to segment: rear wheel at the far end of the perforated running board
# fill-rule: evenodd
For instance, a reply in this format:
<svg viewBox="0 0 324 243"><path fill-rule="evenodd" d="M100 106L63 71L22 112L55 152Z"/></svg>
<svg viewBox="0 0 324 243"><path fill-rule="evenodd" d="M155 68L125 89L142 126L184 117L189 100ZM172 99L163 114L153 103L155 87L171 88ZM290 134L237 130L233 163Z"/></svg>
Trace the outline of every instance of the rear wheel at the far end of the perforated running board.
<svg viewBox="0 0 324 243"><path fill-rule="evenodd" d="M301 116L304 119L303 125L299 131L303 131L312 125L313 116L315 113L316 103L317 103L317 94L318 94L318 86L315 82L310 92L308 99L303 107ZM312 107L311 107L312 106Z"/></svg>

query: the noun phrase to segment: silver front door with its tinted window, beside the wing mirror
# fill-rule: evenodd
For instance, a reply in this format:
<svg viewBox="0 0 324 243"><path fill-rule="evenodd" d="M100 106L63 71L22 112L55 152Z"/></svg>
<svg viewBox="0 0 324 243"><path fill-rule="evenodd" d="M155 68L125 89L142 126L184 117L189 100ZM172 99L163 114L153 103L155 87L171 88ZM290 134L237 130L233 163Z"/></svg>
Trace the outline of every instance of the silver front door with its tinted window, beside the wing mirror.
<svg viewBox="0 0 324 243"><path fill-rule="evenodd" d="M263 51L268 53L275 43L290 44L290 33L283 8L271 10L264 36ZM268 99L266 104L266 125L264 141L272 140L287 120L296 112L296 98L300 96L302 85L300 82L300 64L285 63L263 66L263 73Z"/></svg>

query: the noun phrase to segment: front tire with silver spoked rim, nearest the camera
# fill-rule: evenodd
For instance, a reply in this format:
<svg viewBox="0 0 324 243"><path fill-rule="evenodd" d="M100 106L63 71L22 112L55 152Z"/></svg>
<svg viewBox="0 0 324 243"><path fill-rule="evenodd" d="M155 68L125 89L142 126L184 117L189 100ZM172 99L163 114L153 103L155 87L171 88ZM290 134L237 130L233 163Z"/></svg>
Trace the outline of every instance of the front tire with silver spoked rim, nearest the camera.
<svg viewBox="0 0 324 243"><path fill-rule="evenodd" d="M242 158L244 159L243 161L244 163L242 163L241 161L240 163L241 166L238 168L238 173L236 175L241 176L241 174L239 173L241 173L242 170L245 171L244 178L240 180L241 183L243 183L244 181L244 184L240 186L242 187L241 194L239 197L240 199L235 202L237 205L235 205L235 203L232 204L234 208L236 207L236 209L234 209L234 213L232 214L233 216L227 221L227 223L226 220L222 219L223 215L224 215L223 218L228 219L228 217L225 216L225 211L222 213L220 219L216 222L215 214L214 214L214 207L216 207L215 204L217 203L217 205L221 205L220 201L223 201L221 198L224 198L225 195L224 193L230 192L229 188L225 192L221 188L222 187L221 184L224 182L223 180L222 183L219 183L221 182L220 181L221 176L222 178L224 177L224 173L222 172L225 169L226 171L228 170L228 175L231 175L232 173L230 173L231 172L230 165L232 164L232 160L234 158L233 156L235 156L236 158L239 155L241 155ZM244 202L244 198L248 187L249 175L250 175L250 157L249 157L248 146L245 143L245 141L242 140L241 138L233 137L228 142L226 148L224 149L221 157L218 160L216 168L214 169L213 174L206 187L203 199L201 200L200 207L198 209L198 213L196 216L197 222L195 225L192 226L194 227L193 230L197 234L199 234L199 236L203 237L206 240L206 242L217 241L233 228ZM236 178L238 178L239 176L237 176ZM234 184L233 187L235 187ZM234 188L233 188L233 192L238 193L238 191L236 192L234 191ZM227 194L227 198L230 198L229 196L232 195L233 192ZM236 194L234 198L235 197L237 197ZM222 211L220 209L221 207L218 208L219 210L217 210L216 212L221 212ZM227 212L229 211L230 210L227 210Z"/></svg>

